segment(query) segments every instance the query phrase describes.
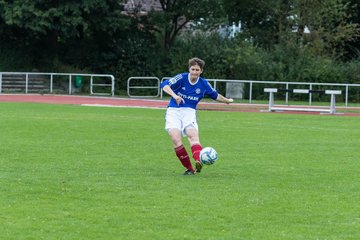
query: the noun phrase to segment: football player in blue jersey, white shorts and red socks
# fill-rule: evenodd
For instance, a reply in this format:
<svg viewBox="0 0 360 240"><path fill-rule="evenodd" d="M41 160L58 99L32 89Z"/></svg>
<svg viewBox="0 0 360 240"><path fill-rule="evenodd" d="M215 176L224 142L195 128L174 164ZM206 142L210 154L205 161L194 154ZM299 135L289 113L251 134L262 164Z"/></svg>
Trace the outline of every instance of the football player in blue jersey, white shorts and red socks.
<svg viewBox="0 0 360 240"><path fill-rule="evenodd" d="M165 129L169 133L176 156L186 168L184 175L200 173L200 151L202 149L199 139L198 124L196 120L196 106L204 96L223 103L232 103L233 99L219 94L209 82L200 77L205 62L199 58L189 60L189 72L180 73L165 80L161 87L171 96L165 116ZM186 136L192 156L195 160L194 170L190 157L183 145L182 136Z"/></svg>

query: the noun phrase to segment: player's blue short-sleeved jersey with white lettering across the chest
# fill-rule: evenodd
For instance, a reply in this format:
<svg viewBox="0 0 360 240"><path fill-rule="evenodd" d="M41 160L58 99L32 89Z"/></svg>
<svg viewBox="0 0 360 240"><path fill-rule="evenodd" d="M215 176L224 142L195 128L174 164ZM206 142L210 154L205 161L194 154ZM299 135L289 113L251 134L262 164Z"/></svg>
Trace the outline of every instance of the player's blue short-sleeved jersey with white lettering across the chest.
<svg viewBox="0 0 360 240"><path fill-rule="evenodd" d="M185 103L176 104L174 98L171 98L168 107L189 107L196 109L197 104L204 96L216 100L218 97L217 91L209 84L209 82L202 77L199 77L196 83L191 83L189 73L181 73L173 78L165 80L161 83L161 88L169 85L174 93L182 97Z"/></svg>

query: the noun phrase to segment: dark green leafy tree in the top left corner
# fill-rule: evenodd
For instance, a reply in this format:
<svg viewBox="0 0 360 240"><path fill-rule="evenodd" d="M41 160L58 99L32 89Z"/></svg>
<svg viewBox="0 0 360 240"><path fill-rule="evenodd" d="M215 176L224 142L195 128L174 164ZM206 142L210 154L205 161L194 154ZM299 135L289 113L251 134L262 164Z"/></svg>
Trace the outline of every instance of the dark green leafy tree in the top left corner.
<svg viewBox="0 0 360 240"><path fill-rule="evenodd" d="M52 59L96 66L127 39L130 18L121 0L0 0L0 44L22 49L38 67Z"/></svg>

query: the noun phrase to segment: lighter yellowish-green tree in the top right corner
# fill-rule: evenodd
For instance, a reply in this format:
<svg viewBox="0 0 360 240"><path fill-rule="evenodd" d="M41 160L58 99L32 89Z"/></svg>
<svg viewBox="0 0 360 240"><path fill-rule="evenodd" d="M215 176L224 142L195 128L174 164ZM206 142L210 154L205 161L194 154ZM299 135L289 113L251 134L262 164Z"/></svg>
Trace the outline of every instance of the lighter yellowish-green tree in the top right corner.
<svg viewBox="0 0 360 240"><path fill-rule="evenodd" d="M299 31L303 44L309 44L316 54L341 58L346 45L360 36L359 24L351 20L354 7L343 0L294 0L291 14L300 30L305 26L310 30L310 34Z"/></svg>

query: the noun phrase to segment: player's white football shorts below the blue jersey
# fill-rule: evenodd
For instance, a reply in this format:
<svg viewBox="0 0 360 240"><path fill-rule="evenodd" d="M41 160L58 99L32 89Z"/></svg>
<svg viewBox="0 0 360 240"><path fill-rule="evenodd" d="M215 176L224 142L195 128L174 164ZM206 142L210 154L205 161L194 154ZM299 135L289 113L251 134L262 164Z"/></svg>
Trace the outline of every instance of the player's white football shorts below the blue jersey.
<svg viewBox="0 0 360 240"><path fill-rule="evenodd" d="M196 110L193 108L171 108L166 110L165 130L172 128L179 129L183 136L186 136L186 128L199 130L196 120Z"/></svg>

